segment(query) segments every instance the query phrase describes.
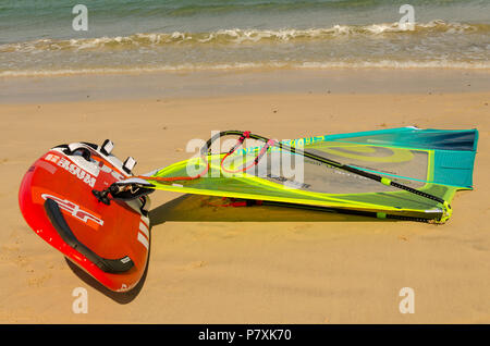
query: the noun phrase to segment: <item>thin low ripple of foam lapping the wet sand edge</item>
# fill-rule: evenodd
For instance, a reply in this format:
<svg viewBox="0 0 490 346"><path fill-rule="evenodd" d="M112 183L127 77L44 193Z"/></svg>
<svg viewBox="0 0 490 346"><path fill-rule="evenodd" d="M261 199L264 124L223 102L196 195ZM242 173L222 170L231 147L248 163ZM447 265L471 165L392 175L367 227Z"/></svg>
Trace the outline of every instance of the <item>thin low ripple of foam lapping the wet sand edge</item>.
<svg viewBox="0 0 490 346"><path fill-rule="evenodd" d="M64 75L90 74L139 74L156 72L192 72L192 71L246 71L246 70L329 70L329 69L454 69L454 70L490 70L487 62L458 61L330 61L330 62L264 62L264 63L230 63L230 64L180 64L161 66L127 66L127 67L93 67L93 69L60 69L60 70L19 70L0 71L0 77L48 77Z"/></svg>

